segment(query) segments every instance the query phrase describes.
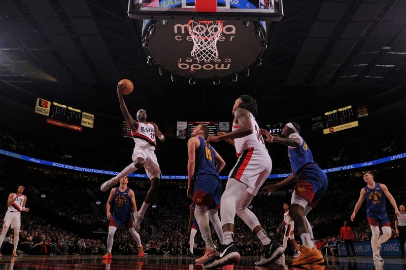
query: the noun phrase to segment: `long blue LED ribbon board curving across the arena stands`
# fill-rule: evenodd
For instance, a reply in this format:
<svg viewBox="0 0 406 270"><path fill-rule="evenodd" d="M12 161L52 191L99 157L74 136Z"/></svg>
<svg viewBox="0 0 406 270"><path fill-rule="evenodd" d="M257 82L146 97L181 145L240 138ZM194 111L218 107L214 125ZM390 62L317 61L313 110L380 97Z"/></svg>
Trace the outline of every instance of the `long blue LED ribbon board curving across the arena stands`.
<svg viewBox="0 0 406 270"><path fill-rule="evenodd" d="M75 170L75 171L81 171L81 172L90 172L90 173L101 173L101 174L109 174L109 175L117 175L118 172L112 172L112 171L105 171L105 170L98 170L98 169L90 169L90 168L82 168L78 166L73 166L73 165L66 165L66 164L61 164L61 163L55 163L51 161L45 161L45 160L40 160L40 159L35 159L27 156L23 156L19 153L14 153L10 152L7 150L0 149L0 155L20 159L20 160L25 160L33 163L39 163L43 165L49 165L49 166L54 166L54 167L59 167L63 169L70 169L70 170ZM406 152L399 153L398 155L374 160L374 161L368 161L364 163L357 163L353 165L347 165L347 166L341 166L341 167L335 167L335 168L330 168L330 169L325 169L323 170L326 173L331 173L331 172L337 172L337 171L344 171L344 170L350 170L350 169L356 169L356 168L362 168L362 167L368 167L368 166L373 166L393 160L399 160L399 159L404 159L406 158ZM290 173L282 173L282 174L271 174L268 176L268 178L286 178L290 175ZM146 174L129 174L128 176L130 177L141 177L141 178L147 178ZM164 175L162 176L162 179L187 179L187 175ZM220 179L226 180L228 179L228 176L220 176Z"/></svg>

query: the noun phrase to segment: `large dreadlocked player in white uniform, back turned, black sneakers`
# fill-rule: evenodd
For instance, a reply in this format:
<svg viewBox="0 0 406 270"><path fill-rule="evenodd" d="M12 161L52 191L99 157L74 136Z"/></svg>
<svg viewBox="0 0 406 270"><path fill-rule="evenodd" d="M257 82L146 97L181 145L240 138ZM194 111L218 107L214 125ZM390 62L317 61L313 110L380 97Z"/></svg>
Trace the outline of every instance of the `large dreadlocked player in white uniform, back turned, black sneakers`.
<svg viewBox="0 0 406 270"><path fill-rule="evenodd" d="M208 142L226 140L234 143L238 161L231 170L223 196L221 197L221 223L223 245L219 253L205 264L206 268L221 267L240 261L238 248L233 242L235 213L253 230L263 245L262 256L256 265L277 260L283 249L265 233L258 218L248 209L254 196L265 182L272 169L272 161L265 148L254 114L257 101L242 95L235 100L232 108L234 121L232 132L209 136ZM234 139L232 142L231 139Z"/></svg>

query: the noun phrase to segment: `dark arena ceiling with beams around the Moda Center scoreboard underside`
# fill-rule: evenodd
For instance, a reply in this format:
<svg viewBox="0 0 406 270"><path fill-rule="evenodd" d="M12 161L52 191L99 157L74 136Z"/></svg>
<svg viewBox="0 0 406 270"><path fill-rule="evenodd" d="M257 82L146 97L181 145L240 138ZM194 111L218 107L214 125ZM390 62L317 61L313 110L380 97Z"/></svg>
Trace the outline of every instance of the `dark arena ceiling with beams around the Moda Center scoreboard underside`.
<svg viewBox="0 0 406 270"><path fill-rule="evenodd" d="M127 105L152 110L156 121L213 120L230 114L244 93L259 100L261 118L275 121L406 98L406 0L284 0L283 20L268 25L262 66L220 86L159 76L146 63L142 22L128 18L127 4L1 0L3 94L119 116L115 86L127 78L135 86Z"/></svg>

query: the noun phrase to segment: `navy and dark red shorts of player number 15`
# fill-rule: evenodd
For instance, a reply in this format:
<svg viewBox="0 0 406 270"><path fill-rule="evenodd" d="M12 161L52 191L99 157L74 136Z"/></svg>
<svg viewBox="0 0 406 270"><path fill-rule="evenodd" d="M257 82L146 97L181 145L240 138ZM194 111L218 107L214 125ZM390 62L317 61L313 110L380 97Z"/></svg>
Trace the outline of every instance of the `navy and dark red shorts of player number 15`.
<svg viewBox="0 0 406 270"><path fill-rule="evenodd" d="M194 182L193 205L220 209L221 183L217 176L199 174Z"/></svg>

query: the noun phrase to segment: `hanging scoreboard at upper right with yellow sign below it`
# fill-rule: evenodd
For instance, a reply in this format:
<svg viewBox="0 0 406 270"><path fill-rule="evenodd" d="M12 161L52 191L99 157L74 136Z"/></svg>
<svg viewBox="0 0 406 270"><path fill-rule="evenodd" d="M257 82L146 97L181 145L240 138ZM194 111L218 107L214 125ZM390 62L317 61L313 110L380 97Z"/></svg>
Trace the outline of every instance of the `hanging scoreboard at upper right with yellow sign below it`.
<svg viewBox="0 0 406 270"><path fill-rule="evenodd" d="M346 106L343 108L324 112L312 118L312 130L323 130L324 134L333 133L349 128L358 127L358 119L367 117L368 109L365 105L357 107Z"/></svg>

